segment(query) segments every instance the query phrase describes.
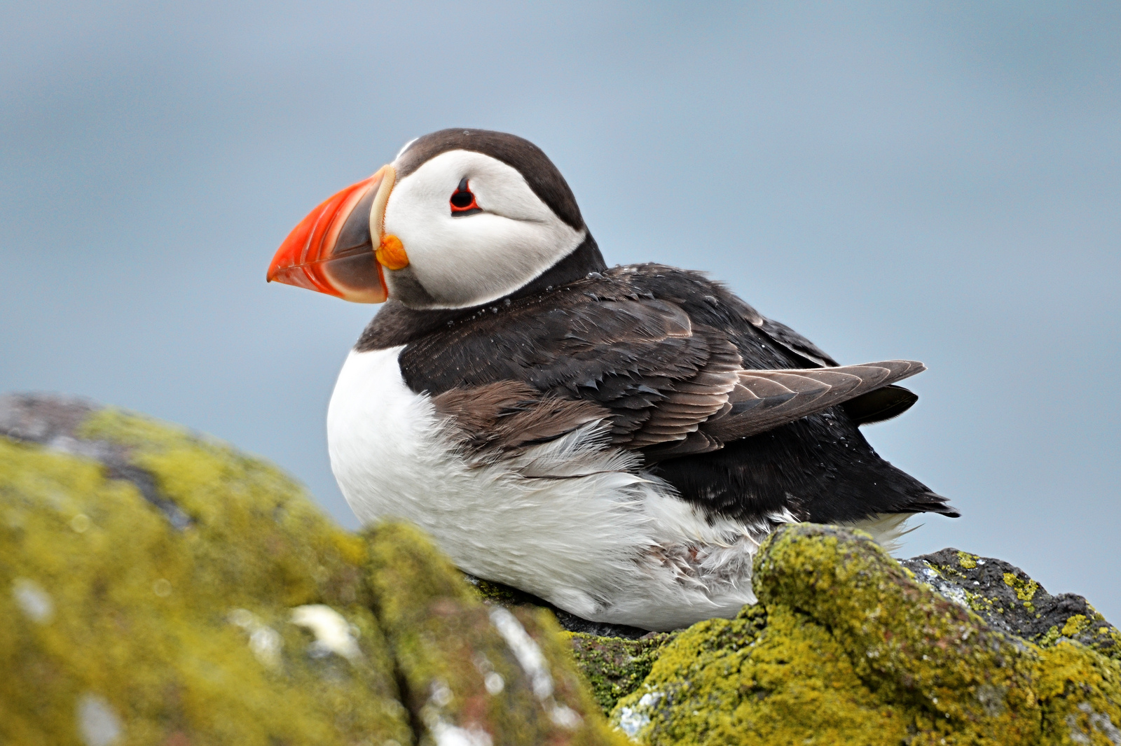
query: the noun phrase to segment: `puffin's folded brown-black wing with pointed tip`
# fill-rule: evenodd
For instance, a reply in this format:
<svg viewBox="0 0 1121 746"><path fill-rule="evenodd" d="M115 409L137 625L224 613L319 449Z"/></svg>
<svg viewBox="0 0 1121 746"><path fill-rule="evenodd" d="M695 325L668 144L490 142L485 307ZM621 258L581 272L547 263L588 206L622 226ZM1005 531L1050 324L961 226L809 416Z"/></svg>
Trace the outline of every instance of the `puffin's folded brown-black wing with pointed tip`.
<svg viewBox="0 0 1121 746"><path fill-rule="evenodd" d="M574 295L545 313L518 311L450 326L401 354L409 385L489 451L602 421L612 444L650 460L705 453L923 370L908 361L747 370L728 332L654 298Z"/></svg>

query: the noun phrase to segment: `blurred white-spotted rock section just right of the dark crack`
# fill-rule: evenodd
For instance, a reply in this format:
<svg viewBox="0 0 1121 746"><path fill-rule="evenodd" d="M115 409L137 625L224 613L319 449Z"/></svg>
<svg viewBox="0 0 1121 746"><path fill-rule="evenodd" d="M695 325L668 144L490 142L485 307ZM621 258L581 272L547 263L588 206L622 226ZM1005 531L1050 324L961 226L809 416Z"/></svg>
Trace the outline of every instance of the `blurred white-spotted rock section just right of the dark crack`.
<svg viewBox="0 0 1121 746"><path fill-rule="evenodd" d="M406 702L428 733L438 736L455 722L464 738L485 733L500 744L617 738L574 671L549 612L484 606L414 528L383 524L368 541L378 618Z"/></svg>

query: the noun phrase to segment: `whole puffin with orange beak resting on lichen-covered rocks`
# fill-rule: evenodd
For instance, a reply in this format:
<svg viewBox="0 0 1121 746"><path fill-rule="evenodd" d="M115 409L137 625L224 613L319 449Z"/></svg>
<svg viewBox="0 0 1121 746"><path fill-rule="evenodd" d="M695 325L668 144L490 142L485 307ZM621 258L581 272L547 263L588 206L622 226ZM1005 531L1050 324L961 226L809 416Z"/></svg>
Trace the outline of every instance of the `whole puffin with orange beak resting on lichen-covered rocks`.
<svg viewBox="0 0 1121 746"><path fill-rule="evenodd" d="M782 523L890 545L916 513L958 515L859 429L915 403L897 382L921 363L841 365L706 274L608 267L520 137L409 141L313 209L267 279L382 304L327 409L358 519L411 522L581 619L732 617Z"/></svg>

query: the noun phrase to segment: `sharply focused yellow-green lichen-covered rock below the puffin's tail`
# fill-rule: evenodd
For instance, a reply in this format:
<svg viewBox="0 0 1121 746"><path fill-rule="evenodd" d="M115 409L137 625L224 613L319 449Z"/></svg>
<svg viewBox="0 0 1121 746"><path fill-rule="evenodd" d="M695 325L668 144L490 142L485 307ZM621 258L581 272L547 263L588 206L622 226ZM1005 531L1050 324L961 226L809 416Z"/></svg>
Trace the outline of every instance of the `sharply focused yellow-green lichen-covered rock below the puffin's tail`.
<svg viewBox="0 0 1121 746"><path fill-rule="evenodd" d="M867 534L782 526L754 582L757 606L680 633L619 701L612 720L632 739L1121 743L1121 664L1074 638L1039 645L986 623Z"/></svg>

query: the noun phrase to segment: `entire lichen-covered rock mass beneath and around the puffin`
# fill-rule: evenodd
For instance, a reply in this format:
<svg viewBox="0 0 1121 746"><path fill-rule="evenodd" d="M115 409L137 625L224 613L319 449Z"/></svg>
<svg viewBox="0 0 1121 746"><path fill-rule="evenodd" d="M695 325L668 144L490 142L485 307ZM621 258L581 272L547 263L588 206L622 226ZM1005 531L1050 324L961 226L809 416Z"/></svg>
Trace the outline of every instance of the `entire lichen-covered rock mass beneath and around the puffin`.
<svg viewBox="0 0 1121 746"><path fill-rule="evenodd" d="M3 744L1121 744L1118 631L1000 560L788 525L758 605L646 634L147 418L7 397L0 436Z"/></svg>

